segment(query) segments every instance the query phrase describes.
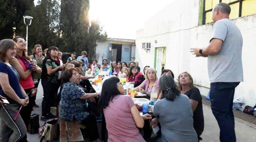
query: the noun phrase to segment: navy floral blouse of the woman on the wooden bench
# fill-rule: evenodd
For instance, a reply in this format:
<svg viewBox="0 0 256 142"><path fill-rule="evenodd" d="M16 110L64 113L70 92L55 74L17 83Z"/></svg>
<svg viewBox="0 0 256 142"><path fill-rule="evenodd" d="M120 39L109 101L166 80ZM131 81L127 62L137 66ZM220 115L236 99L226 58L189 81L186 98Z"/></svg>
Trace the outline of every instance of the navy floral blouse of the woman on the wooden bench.
<svg viewBox="0 0 256 142"><path fill-rule="evenodd" d="M87 118L87 101L80 99L84 94L84 90L77 84L65 83L61 91L59 117L68 121L77 120L78 123Z"/></svg>

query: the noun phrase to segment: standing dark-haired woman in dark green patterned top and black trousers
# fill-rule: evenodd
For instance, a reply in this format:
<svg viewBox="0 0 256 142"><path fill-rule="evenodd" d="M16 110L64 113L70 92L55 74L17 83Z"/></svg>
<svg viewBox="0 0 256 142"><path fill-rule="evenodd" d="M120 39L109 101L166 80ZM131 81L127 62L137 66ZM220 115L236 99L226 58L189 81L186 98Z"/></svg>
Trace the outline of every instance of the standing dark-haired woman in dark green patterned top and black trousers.
<svg viewBox="0 0 256 142"><path fill-rule="evenodd" d="M57 58L58 52L59 49L57 47L50 47L47 51L48 56L46 56L43 60L41 74L42 86L44 91L44 98L42 101L42 121L46 121L48 119L56 117L51 114L51 106L55 103L54 100L59 75L58 71L63 70L63 66L60 66L60 62Z"/></svg>

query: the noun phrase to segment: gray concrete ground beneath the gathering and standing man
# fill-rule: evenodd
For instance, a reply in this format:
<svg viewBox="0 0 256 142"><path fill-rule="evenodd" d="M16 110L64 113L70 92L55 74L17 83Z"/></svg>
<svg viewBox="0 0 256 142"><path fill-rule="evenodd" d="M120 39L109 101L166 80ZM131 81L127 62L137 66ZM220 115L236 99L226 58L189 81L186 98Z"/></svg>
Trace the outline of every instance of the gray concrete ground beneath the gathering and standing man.
<svg viewBox="0 0 256 142"><path fill-rule="evenodd" d="M39 108L34 108L33 113L41 114L41 103L43 96L43 88L41 83L38 86L38 94L36 97L36 103L40 106ZM203 98L203 112L204 112L204 132L201 135L203 138L202 142L218 142L219 141L219 127L215 117L212 114L211 108L209 106L210 102ZM51 109L53 114L56 114L56 109ZM237 142L256 142L256 117L248 116L241 111L235 111L235 131ZM41 115L40 115L41 117ZM239 118L238 118L239 117ZM241 119L240 119L241 118ZM246 121L245 121L246 120ZM249 121L249 122L248 122ZM43 125L43 121L39 121L40 126ZM100 126L100 123L99 125ZM100 127L99 127L100 131ZM39 134L28 134L29 142L39 142ZM43 141L45 142L45 140Z"/></svg>

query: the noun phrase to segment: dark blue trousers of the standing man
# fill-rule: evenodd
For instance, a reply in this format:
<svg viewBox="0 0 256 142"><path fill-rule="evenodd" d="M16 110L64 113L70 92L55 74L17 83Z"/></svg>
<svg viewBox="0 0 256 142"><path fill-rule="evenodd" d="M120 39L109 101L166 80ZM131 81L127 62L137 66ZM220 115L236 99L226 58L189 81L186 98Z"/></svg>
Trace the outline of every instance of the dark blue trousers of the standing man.
<svg viewBox="0 0 256 142"><path fill-rule="evenodd" d="M210 87L212 113L220 127L221 142L235 142L235 120L232 110L235 87L240 82L213 82Z"/></svg>

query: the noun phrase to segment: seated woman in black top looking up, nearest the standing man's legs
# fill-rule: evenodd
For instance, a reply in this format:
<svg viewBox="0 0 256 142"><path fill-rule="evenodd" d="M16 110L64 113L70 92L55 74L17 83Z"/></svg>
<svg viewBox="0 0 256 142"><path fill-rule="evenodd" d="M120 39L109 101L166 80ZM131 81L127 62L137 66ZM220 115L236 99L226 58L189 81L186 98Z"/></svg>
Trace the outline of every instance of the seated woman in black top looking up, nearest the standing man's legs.
<svg viewBox="0 0 256 142"><path fill-rule="evenodd" d="M204 114L200 91L194 86L193 78L188 72L182 72L179 75L178 87L182 94L189 97L193 111L194 129L198 139L201 139L200 135L204 131Z"/></svg>

